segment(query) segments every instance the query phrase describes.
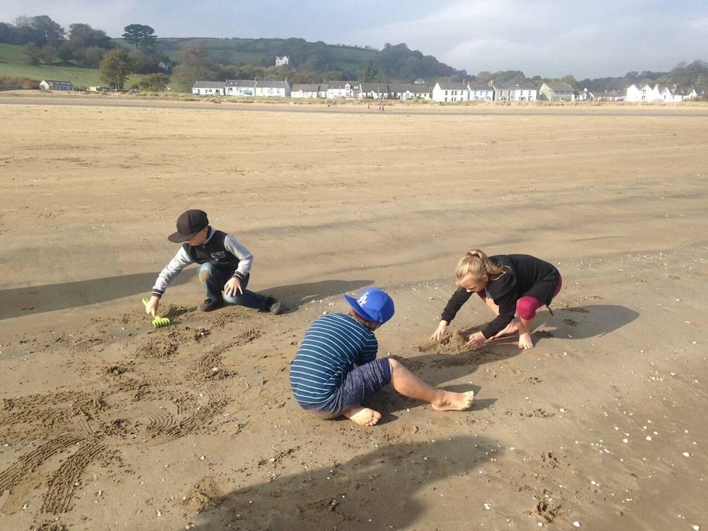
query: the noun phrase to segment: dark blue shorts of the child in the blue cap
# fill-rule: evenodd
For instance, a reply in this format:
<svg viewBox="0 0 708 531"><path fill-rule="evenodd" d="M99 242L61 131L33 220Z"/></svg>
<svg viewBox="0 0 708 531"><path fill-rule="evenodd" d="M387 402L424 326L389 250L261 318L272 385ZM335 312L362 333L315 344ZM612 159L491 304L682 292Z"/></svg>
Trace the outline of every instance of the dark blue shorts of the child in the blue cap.
<svg viewBox="0 0 708 531"><path fill-rule="evenodd" d="M379 391L391 381L391 364L388 358L377 358L348 372L336 392L319 404L300 404L305 411L317 413L322 418L336 418L353 404Z"/></svg>

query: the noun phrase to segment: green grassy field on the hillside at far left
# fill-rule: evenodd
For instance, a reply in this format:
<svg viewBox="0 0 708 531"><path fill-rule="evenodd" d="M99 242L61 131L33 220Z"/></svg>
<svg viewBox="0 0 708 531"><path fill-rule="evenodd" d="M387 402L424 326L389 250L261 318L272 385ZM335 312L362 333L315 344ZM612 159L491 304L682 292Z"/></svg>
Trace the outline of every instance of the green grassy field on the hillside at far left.
<svg viewBox="0 0 708 531"><path fill-rule="evenodd" d="M26 77L42 81L42 79L55 79L57 81L71 81L75 86L94 86L102 83L98 76L97 68L79 68L58 65L40 64L33 66L28 62L27 56L21 46L0 44L0 76ZM128 76L125 86L136 83L142 75Z"/></svg>

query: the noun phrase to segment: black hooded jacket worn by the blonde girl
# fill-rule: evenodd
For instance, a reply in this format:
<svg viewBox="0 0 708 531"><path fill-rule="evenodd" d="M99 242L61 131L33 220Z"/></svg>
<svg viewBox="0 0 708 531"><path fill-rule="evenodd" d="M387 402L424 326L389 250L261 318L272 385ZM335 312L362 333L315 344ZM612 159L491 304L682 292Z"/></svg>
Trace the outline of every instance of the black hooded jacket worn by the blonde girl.
<svg viewBox="0 0 708 531"><path fill-rule="evenodd" d="M530 295L546 306L551 304L553 292L561 278L561 274L553 264L535 256L499 254L490 256L489 260L500 267L506 266L508 270L496 280L490 278L486 285L486 296L491 297L499 307L499 315L481 331L487 339L496 336L514 319L516 302L521 297ZM450 323L462 308L462 304L471 296L472 293L468 293L464 287L458 287L442 310L440 319Z"/></svg>

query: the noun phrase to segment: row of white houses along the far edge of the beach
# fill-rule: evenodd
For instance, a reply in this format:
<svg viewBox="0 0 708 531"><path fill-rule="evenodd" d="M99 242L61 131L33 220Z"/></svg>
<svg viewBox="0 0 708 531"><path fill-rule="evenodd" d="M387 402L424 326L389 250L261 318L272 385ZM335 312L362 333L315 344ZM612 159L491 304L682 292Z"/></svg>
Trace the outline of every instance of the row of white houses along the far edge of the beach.
<svg viewBox="0 0 708 531"><path fill-rule="evenodd" d="M647 101L677 102L697 98L695 89L678 86L627 87L619 91L578 91L563 82L548 82L536 89L528 82L474 84L438 81L433 89L422 84L360 83L330 81L323 84L292 84L285 81L227 79L195 81L192 93L200 96L251 96L256 98L326 98L432 100L440 103L457 101Z"/></svg>

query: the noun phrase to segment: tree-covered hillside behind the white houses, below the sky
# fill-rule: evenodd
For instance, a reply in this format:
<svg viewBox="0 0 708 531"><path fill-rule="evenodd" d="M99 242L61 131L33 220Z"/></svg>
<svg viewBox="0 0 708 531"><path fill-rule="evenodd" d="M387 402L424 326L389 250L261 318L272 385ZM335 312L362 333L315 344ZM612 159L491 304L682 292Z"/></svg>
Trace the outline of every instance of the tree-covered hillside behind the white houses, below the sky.
<svg viewBox="0 0 708 531"><path fill-rule="evenodd" d="M30 64L74 65L100 68L101 80L122 89L128 74L146 74L138 86L164 90L171 86L190 92L196 80L282 80L290 83L412 82L418 78L432 86L435 81L565 81L574 89L624 91L631 84L678 84L708 89L708 63L678 64L671 72L628 72L622 77L583 79L528 78L518 70L479 72L470 76L431 55L410 50L405 44L372 47L327 45L290 39L157 38L149 25L125 26L122 38L110 38L88 24L70 24L64 30L49 16L21 16L14 23L0 22L0 42L21 45ZM276 56L287 55L289 64L274 66ZM171 78L168 74L171 74ZM67 80L71 81L71 80Z"/></svg>

